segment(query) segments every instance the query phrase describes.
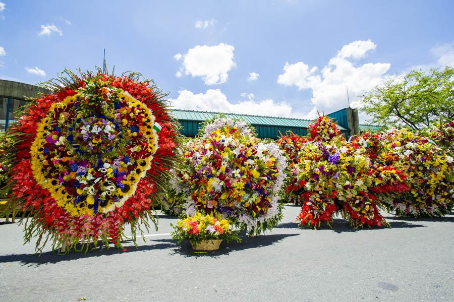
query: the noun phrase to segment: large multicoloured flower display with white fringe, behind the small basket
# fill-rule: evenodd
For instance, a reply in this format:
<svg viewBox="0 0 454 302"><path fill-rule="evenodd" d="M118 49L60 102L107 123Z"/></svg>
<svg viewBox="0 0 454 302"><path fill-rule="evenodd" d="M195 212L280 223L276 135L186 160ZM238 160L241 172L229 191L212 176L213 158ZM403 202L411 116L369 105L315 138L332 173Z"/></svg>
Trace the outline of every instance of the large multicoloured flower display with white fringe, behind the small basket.
<svg viewBox="0 0 454 302"><path fill-rule="evenodd" d="M219 213L250 234L271 229L281 219L286 157L274 143L259 140L249 124L214 118L185 150L178 173L185 186L177 191L187 197L187 214Z"/></svg>

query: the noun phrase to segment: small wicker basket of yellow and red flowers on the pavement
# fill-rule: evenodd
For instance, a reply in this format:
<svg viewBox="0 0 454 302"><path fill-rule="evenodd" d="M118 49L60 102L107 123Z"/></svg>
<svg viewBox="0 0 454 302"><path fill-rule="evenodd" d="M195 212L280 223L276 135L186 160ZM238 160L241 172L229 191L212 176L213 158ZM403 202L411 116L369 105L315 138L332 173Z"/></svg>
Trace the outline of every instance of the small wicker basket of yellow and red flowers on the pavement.
<svg viewBox="0 0 454 302"><path fill-rule="evenodd" d="M194 216L188 215L185 219L178 220L177 225L172 226L174 227L172 239L178 240L178 244L188 240L192 248L198 251L217 250L222 240L241 242L238 231L232 230L229 220L213 213L205 214L198 211Z"/></svg>

